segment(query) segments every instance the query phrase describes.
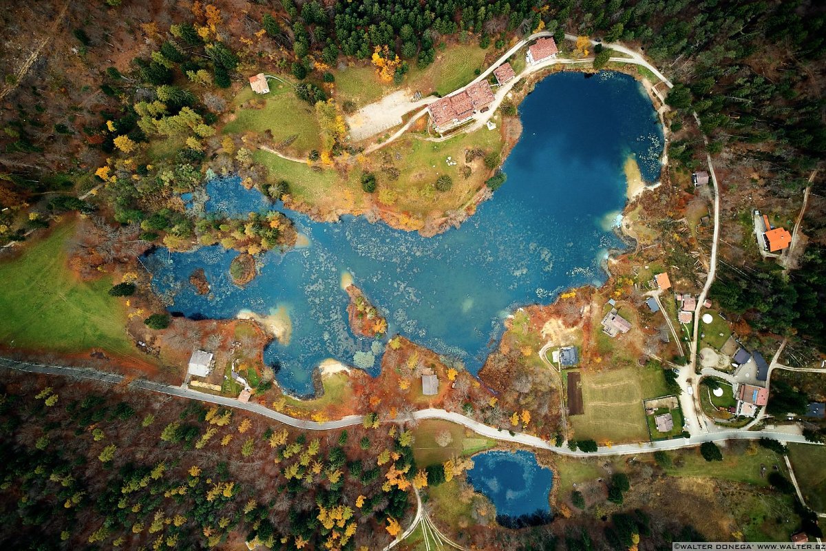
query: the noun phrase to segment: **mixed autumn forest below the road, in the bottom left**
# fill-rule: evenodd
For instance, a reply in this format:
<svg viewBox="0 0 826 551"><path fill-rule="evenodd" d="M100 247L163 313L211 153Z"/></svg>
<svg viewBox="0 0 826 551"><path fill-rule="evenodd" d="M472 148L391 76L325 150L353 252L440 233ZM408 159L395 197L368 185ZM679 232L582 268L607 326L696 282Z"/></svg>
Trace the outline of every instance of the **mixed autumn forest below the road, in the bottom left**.
<svg viewBox="0 0 826 551"><path fill-rule="evenodd" d="M196 401L49 384L4 374L7 549L202 549L239 534L270 549L377 549L425 476L396 425L312 434Z"/></svg>

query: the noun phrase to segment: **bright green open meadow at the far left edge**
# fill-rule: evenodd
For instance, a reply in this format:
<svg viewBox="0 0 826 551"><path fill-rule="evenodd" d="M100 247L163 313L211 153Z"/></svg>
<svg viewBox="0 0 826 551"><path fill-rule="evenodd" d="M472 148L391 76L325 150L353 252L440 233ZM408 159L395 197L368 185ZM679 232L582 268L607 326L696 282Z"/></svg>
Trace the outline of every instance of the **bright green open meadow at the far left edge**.
<svg viewBox="0 0 826 551"><path fill-rule="evenodd" d="M74 228L74 222L64 223L0 264L0 342L64 353L97 348L139 358L126 335L124 301L107 294L112 280L80 281L66 264L64 246Z"/></svg>

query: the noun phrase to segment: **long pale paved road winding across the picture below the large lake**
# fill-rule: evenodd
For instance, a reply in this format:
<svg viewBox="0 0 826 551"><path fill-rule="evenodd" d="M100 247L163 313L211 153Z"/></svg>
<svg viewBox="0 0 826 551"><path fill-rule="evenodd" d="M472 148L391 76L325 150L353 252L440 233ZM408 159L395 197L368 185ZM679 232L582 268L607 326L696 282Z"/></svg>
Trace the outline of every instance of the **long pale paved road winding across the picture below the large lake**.
<svg viewBox="0 0 826 551"><path fill-rule="evenodd" d="M16 362L9 359L0 359L0 367L13 369L23 373L41 373L46 375L58 375L77 379L87 379L91 381L107 382L109 384L119 384L124 381L122 375L116 373L105 373L86 368L73 368L59 365L42 365L38 363L23 363ZM191 400L205 401L207 403L217 404L221 406L234 407L235 409L251 411L269 419L277 420L284 425L296 427L303 430L334 430L342 429L344 427L359 425L363 421L363 416L346 416L338 420L330 421L312 421L296 419L291 416L284 415L278 411L273 411L260 404L249 402L241 402L235 398L214 396L206 392L198 392L189 388L174 387L165 385L160 382L147 381L145 379L138 379L130 382L131 387L148 390L151 392L159 392L169 396L183 397ZM411 419L440 419L453 421L458 425L468 427L479 435L487 436L491 439L496 439L501 442L514 442L516 444L523 444L537 449L547 449L556 454L563 454L571 457L591 457L596 455L622 455L622 454L638 454L658 449L680 449L702 444L703 442L719 442L727 439L759 439L761 437L778 439L784 442L795 442L800 444L807 443L802 435L795 435L784 433L778 430L724 430L715 432L714 434L692 435L688 439L672 439L663 440L659 442L640 442L638 444L619 444L615 446L603 446L596 452L587 454L582 451L574 451L567 447L554 446L547 440L540 439L534 435L526 435L523 433L512 433L508 430L496 429L494 427L480 423L477 420L469 419L455 411L445 411L435 408L415 411ZM403 421L405 419L397 419ZM386 422L393 422L385 420Z"/></svg>

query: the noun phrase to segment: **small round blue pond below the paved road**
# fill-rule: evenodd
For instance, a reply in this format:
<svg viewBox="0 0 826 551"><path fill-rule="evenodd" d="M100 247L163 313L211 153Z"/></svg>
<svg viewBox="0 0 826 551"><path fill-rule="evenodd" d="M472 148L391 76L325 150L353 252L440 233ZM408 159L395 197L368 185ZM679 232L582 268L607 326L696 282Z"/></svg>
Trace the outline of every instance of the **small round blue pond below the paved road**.
<svg viewBox="0 0 826 551"><path fill-rule="evenodd" d="M526 451L493 451L473 456L468 482L491 500L496 516L511 519L549 514L548 494L553 471L540 467L536 456Z"/></svg>

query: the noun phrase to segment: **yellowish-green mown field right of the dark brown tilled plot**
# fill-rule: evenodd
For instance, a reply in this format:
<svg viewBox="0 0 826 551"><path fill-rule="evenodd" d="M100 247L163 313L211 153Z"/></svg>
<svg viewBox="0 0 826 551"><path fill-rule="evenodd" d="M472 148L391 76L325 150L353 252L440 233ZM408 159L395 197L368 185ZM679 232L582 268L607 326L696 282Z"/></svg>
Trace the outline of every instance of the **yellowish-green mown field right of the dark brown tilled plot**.
<svg viewBox="0 0 826 551"><path fill-rule="evenodd" d="M659 368L622 368L603 373L582 370L585 413L571 416L577 439L637 442L648 439L643 400L667 394Z"/></svg>

